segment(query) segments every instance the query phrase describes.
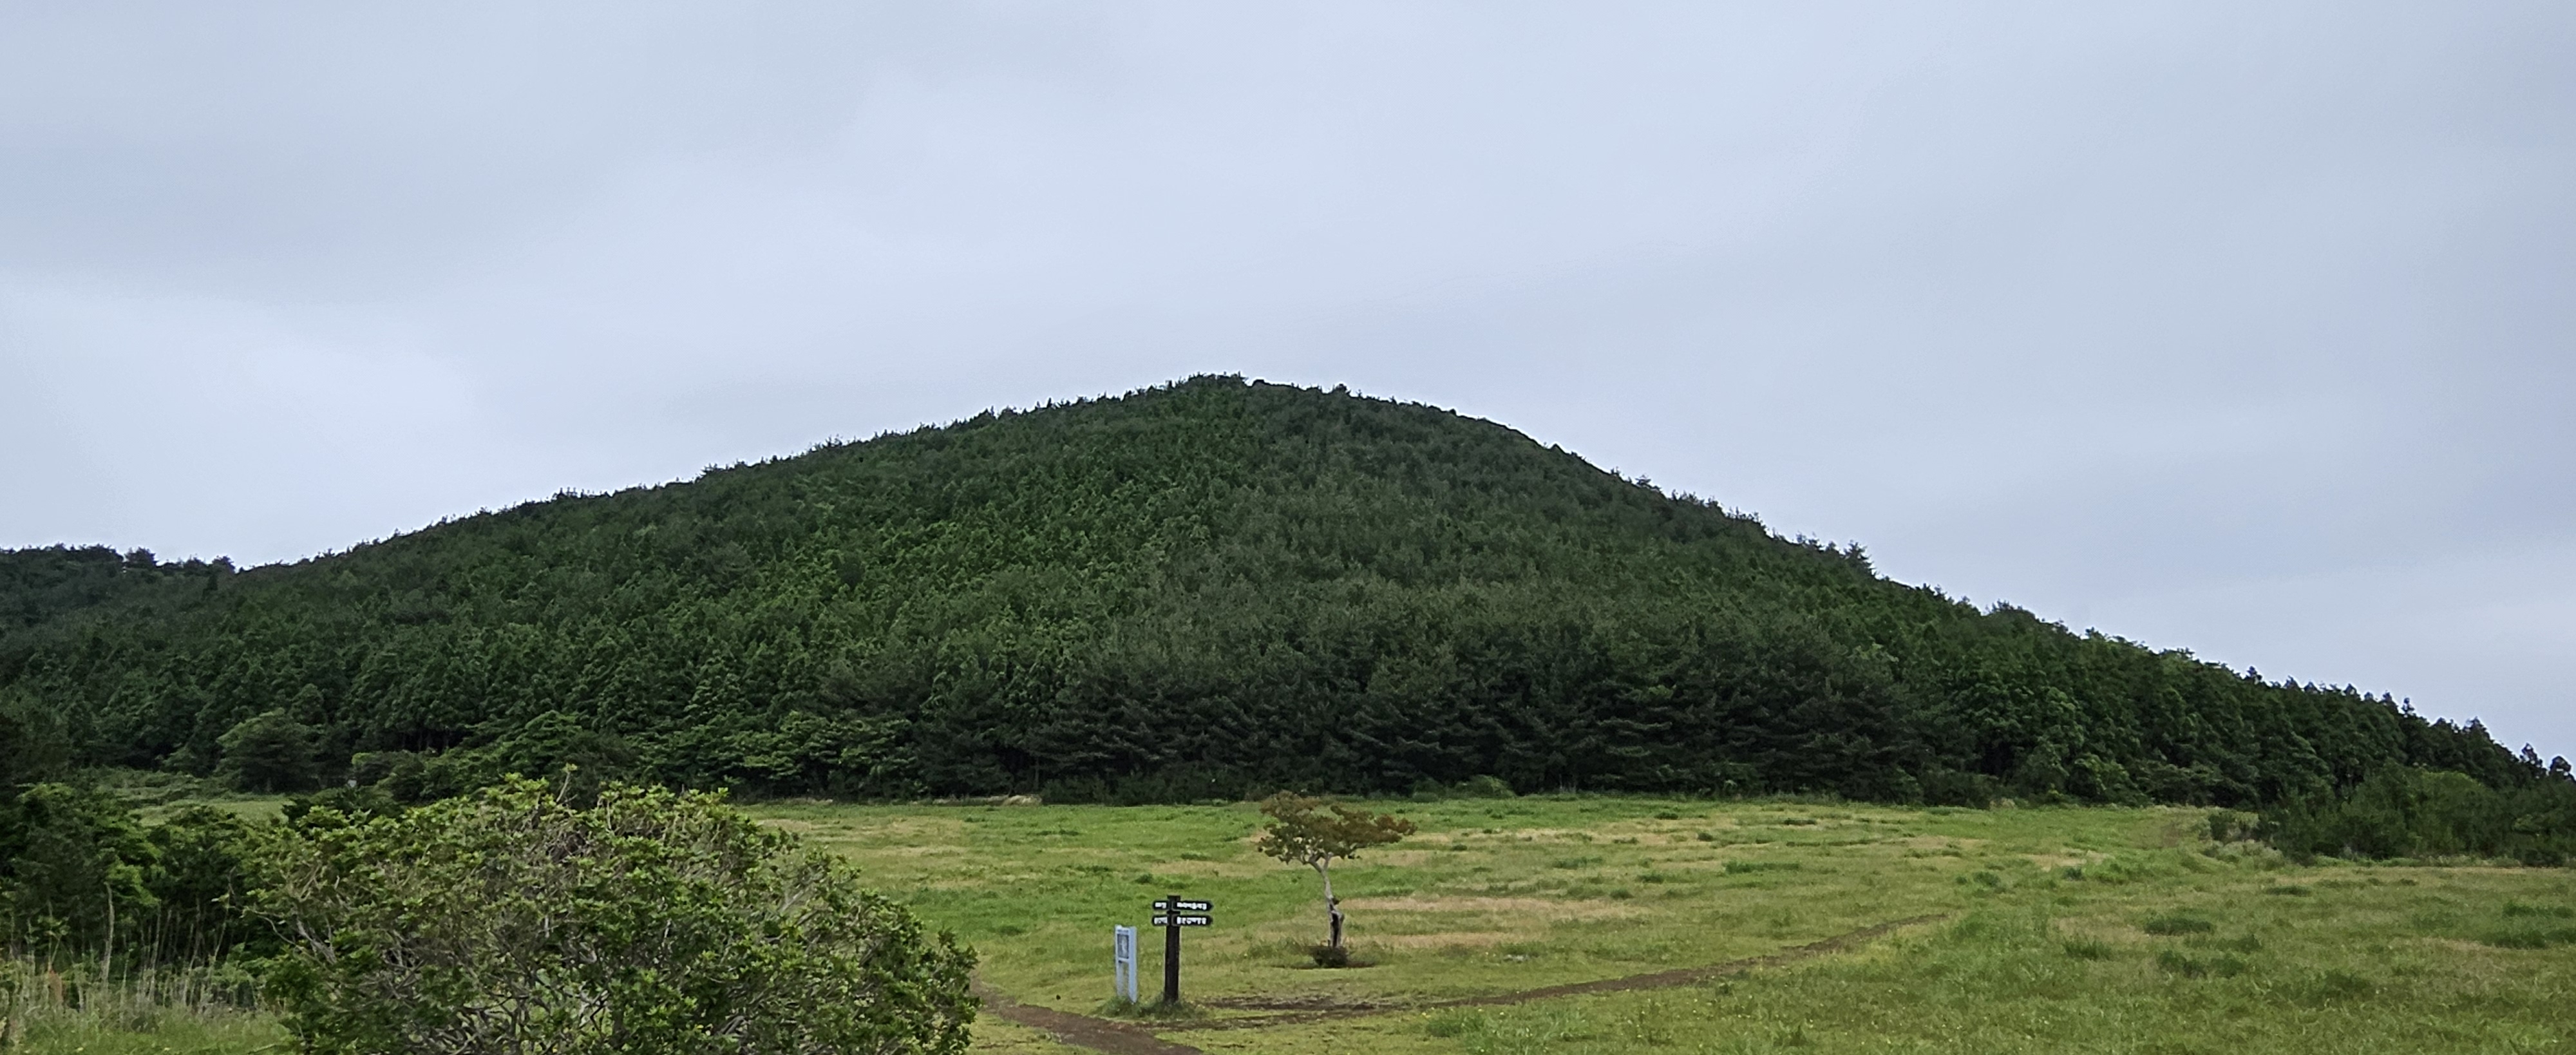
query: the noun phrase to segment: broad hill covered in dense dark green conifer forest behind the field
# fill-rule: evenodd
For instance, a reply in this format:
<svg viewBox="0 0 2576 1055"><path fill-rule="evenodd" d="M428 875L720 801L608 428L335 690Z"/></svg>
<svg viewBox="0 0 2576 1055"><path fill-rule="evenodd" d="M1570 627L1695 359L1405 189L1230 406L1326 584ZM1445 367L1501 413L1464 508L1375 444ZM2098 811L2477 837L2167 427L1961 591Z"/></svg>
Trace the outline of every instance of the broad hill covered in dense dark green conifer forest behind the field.
<svg viewBox="0 0 2576 1055"><path fill-rule="evenodd" d="M2272 803L2540 775L1623 481L1242 378L827 445L291 566L0 556L5 736L70 759L752 793L1834 790ZM26 754L39 757L39 754Z"/></svg>

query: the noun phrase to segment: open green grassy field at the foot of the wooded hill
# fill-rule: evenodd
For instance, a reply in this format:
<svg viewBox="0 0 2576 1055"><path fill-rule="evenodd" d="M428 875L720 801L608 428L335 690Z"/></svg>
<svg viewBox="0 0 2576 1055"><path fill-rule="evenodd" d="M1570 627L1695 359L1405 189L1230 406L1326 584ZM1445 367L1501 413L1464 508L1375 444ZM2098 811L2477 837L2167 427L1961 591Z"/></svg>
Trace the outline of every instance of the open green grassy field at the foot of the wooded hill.
<svg viewBox="0 0 2576 1055"><path fill-rule="evenodd" d="M1376 803L1422 831L1334 872L1355 955L1316 970L1314 872L1252 805L755 805L860 862L1023 1001L1103 1014L1110 926L1213 901L1157 1024L1208 1052L2558 1052L2576 1050L2576 872L2290 867L2205 811L1512 798ZM1728 978L1492 998L1752 960ZM1146 931L1144 980L1162 973ZM113 1029L111 1029L113 1032ZM252 1050L245 1024L28 1050ZM979 1050L1066 1052L987 1016ZM75 1042L77 1040L77 1042Z"/></svg>

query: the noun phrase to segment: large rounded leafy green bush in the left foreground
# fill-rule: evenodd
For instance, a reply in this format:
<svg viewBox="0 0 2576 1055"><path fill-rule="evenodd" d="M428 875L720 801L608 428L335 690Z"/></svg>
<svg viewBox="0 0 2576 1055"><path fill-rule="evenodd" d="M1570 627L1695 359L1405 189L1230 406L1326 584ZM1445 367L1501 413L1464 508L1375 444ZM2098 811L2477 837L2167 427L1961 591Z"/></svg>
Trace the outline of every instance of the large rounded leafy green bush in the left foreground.
<svg viewBox="0 0 2576 1055"><path fill-rule="evenodd" d="M510 780L270 854L312 1055L956 1055L974 955L716 795Z"/></svg>

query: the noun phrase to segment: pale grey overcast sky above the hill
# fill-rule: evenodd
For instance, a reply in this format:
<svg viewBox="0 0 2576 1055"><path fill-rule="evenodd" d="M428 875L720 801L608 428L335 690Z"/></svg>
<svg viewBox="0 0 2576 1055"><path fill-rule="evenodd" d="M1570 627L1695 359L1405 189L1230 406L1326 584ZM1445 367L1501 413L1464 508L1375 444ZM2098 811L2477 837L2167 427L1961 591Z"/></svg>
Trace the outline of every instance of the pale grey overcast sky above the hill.
<svg viewBox="0 0 2576 1055"><path fill-rule="evenodd" d="M2566 0L0 0L0 546L1190 373L2576 754Z"/></svg>

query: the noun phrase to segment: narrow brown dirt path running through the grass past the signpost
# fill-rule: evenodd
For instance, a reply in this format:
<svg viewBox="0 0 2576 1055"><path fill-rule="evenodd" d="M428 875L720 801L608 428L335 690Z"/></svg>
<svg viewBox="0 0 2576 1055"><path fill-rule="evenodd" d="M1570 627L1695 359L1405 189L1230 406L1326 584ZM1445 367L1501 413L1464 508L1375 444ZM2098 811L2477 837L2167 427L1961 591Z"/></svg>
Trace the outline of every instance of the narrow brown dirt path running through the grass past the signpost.
<svg viewBox="0 0 2576 1055"><path fill-rule="evenodd" d="M1180 1029L1262 1029L1262 1027L1291 1027L1291 1024L1303 1024L1303 1022L1327 1022L1327 1019L1358 1019L1358 1016L1388 1014L1388 1011L1437 1011L1437 1009L1453 1009L1453 1006L1504 1006L1504 1004L1548 1001L1548 998L1558 998L1558 996L1628 993L1628 991L1641 991L1641 988L1695 986L1695 983L1705 983L1710 978L1728 978L1728 975L1741 975L1741 973L1749 973L1749 970L1780 968L1780 965L1790 965L1790 962L1798 962L1798 960L1814 960L1814 957L1821 957L1821 955L1852 950L1857 944L1865 944L1865 942L1873 942L1878 937L1886 937L1888 931L1896 931L1896 929L1904 929L1904 926L1914 926L1914 924L1929 924L1929 921L1942 919L1942 916L1947 916L1947 913L1891 919L1886 924L1870 924L1870 926L1862 926L1862 929L1850 931L1850 934L1834 934L1834 937L1829 937L1824 942L1808 942L1808 944L1798 944L1798 947L1770 952L1770 955L1759 955L1759 957L1726 960L1726 962L1716 962L1716 965L1708 965L1708 968L1656 970L1651 975L1602 978L1602 980L1571 983L1571 986L1525 988L1520 993L1461 996L1461 998L1453 998L1453 1001L1427 1001L1427 1004L1342 1004L1342 1006L1332 1006L1332 1009L1296 1006L1296 1011L1288 1011L1288 1014L1265 1014L1265 1016L1247 1016L1247 1019L1170 1022L1170 1024L1162 1024L1157 1029L1159 1032L1180 1032ZM1154 1032L1149 1032L1146 1027L1136 1027L1136 1024L1126 1024L1126 1022L1110 1022L1110 1019L1095 1019L1095 1016L1087 1016L1087 1014L1056 1011L1056 1009L1043 1009L1043 1006L1028 1006L1028 1004L1012 1001L1010 996L1002 996L1002 993L981 988L981 986L976 986L976 996L984 996L984 1009L987 1011L999 1014L999 1016L1005 1016L1010 1022L1018 1022L1023 1027L1043 1029L1043 1032L1054 1034L1056 1040L1061 1040L1066 1045L1074 1045L1074 1047L1090 1047L1095 1052L1110 1052L1110 1055L1203 1055L1198 1047L1162 1040ZM1285 1009L1288 1004L1239 1001L1239 1004L1231 1004L1231 1006L1242 1006L1242 1009Z"/></svg>

